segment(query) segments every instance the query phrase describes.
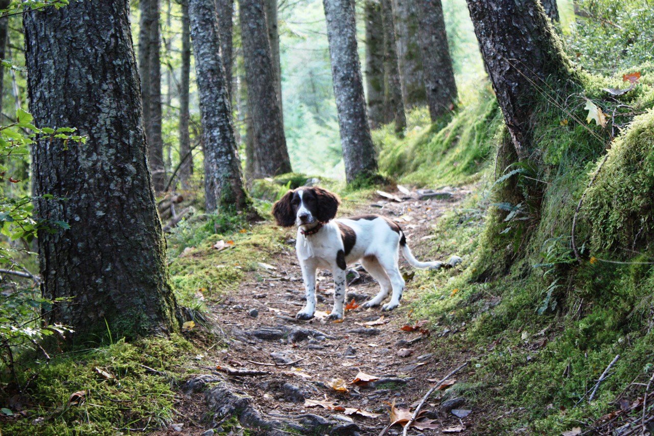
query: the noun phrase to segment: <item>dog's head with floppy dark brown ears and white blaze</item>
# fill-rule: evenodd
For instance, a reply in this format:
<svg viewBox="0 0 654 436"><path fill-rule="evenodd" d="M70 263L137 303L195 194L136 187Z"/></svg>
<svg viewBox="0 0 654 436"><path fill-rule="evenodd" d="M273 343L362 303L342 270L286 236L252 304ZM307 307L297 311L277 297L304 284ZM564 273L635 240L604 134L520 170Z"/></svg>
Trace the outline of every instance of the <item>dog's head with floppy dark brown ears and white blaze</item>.
<svg viewBox="0 0 654 436"><path fill-rule="evenodd" d="M273 205L273 216L282 227L311 226L336 217L341 200L334 192L318 187L300 187L286 192Z"/></svg>

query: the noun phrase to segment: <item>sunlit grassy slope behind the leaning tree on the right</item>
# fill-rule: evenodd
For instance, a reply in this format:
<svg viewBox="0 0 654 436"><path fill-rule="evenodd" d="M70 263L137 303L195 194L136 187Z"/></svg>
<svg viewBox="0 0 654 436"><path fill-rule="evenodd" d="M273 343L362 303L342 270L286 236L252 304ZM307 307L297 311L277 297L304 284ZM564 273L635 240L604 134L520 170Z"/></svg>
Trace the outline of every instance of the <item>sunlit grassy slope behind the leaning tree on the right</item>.
<svg viewBox="0 0 654 436"><path fill-rule="evenodd" d="M389 124L373 132L379 168L401 183L461 185L478 178L492 159L493 135L502 114L485 82L470 103L429 126L409 124L400 138Z"/></svg>

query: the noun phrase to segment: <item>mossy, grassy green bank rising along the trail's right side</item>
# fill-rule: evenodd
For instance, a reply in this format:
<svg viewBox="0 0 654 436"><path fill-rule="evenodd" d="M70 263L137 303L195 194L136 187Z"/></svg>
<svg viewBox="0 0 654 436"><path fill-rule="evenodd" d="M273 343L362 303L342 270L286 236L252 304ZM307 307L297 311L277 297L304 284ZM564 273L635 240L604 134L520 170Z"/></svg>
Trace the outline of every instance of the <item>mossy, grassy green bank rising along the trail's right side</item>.
<svg viewBox="0 0 654 436"><path fill-rule="evenodd" d="M567 84L560 97L534 101L538 153L506 168L497 162L478 175L443 179L438 162L459 152L430 148L454 126L471 132L480 120L492 127L483 141L495 150L511 147L500 118L480 117L490 113L483 100L464 109L476 117L455 116L445 128L385 143L390 149L382 156L397 162L383 168L400 181L479 180L477 197L441 217L429 240L434 253L462 256L462 266L416 274L407 286L419 295L414 317L431 319L434 333L458 332L432 336L440 355L472 360L458 394L473 410L502 411L479 424L477 434L560 434L619 410L614 401L621 395L634 401L644 394L654 371L651 70L640 65L615 79L577 73L579 83ZM608 96L604 88L627 88L622 74L632 71L642 73L634 89ZM587 99L610 115L606 128L585 122ZM434 154L431 175L409 160Z"/></svg>

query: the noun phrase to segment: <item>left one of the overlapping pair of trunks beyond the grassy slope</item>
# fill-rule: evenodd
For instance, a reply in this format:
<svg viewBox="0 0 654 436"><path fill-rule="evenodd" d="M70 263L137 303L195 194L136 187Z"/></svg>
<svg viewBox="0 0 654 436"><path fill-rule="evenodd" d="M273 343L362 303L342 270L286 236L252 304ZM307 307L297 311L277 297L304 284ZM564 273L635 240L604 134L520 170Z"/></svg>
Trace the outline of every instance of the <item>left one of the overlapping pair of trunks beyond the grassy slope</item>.
<svg viewBox="0 0 654 436"><path fill-rule="evenodd" d="M384 123L384 29L379 0L366 0L366 91L368 121L376 129Z"/></svg>

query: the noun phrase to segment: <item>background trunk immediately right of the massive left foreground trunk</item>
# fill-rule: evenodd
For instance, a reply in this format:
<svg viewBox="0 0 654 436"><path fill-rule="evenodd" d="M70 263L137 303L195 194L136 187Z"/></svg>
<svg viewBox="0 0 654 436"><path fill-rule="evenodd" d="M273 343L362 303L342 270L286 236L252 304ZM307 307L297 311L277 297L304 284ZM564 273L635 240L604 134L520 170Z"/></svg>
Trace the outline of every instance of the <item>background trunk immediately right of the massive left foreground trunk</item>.
<svg viewBox="0 0 654 436"><path fill-rule="evenodd" d="M162 73L160 61L159 0L141 0L141 31L139 33L139 76L148 141L148 162L154 190L165 186L162 139Z"/></svg>

